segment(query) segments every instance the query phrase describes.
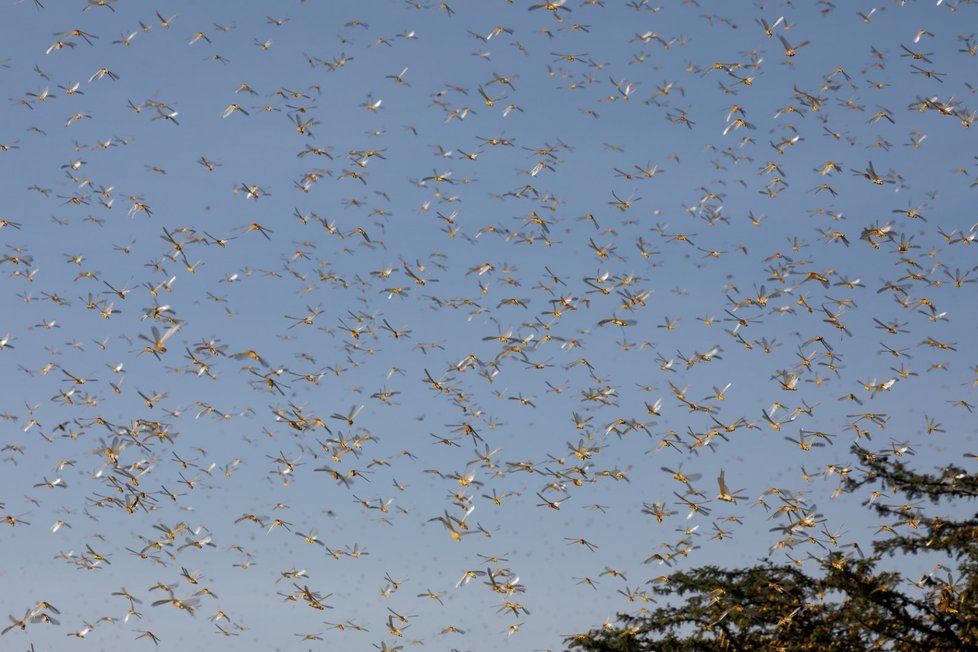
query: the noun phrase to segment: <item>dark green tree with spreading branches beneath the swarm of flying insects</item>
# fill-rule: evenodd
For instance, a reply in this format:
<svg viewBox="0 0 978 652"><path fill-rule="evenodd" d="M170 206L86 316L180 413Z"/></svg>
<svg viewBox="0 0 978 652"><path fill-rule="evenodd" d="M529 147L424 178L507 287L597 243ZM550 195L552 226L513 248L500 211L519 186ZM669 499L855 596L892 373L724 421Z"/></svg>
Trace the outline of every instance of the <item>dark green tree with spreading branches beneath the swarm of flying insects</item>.
<svg viewBox="0 0 978 652"><path fill-rule="evenodd" d="M962 513L963 502L978 497L978 475L956 465L918 473L896 455L853 452L862 468L845 475L846 491L876 488L906 501L868 502L889 535L873 543L871 556L833 550L816 558L817 576L771 563L676 572L653 589L671 606L619 614L617 624L565 644L588 652L978 649L978 514L936 514ZM918 580L880 569L884 558L922 553L942 553L946 563Z"/></svg>

